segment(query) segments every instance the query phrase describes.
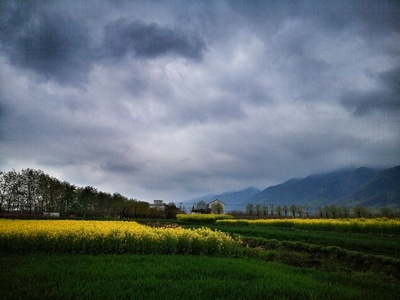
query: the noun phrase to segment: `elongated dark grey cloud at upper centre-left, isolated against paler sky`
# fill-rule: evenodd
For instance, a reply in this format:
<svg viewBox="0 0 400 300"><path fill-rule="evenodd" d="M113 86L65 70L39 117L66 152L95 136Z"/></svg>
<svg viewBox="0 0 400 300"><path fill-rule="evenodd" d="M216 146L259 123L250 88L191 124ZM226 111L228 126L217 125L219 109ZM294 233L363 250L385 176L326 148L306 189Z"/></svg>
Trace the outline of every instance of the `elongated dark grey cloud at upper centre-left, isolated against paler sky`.
<svg viewBox="0 0 400 300"><path fill-rule="evenodd" d="M120 58L127 53L139 58L176 54L198 60L204 49L205 43L199 37L156 23L119 19L105 27L104 51L106 56L113 58Z"/></svg>

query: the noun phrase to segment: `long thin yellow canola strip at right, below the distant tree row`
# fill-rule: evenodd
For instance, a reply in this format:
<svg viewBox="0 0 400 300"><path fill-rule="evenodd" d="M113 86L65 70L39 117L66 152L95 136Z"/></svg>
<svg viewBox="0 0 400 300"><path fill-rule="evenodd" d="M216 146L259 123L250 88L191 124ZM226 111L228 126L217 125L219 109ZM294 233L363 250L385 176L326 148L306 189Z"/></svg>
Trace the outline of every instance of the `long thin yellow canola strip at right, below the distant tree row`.
<svg viewBox="0 0 400 300"><path fill-rule="evenodd" d="M265 226L352 233L399 234L400 219L258 219L217 220L217 225Z"/></svg>

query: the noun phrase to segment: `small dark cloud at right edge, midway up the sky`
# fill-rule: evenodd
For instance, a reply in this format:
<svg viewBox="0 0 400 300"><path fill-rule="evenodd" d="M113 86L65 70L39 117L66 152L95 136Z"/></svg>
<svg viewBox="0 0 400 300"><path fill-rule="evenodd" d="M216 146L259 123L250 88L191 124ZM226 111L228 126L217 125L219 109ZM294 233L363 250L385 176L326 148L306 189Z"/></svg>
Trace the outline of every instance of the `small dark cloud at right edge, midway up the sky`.
<svg viewBox="0 0 400 300"><path fill-rule="evenodd" d="M400 67L378 76L378 88L372 91L351 91L341 102L355 115L363 116L375 111L400 110Z"/></svg>

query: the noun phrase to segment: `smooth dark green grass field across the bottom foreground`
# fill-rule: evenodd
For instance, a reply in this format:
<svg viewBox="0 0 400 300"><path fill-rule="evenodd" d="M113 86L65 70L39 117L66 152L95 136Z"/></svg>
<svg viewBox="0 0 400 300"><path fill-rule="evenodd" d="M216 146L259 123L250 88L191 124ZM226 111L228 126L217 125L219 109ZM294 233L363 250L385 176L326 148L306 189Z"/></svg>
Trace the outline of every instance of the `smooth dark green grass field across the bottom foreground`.
<svg viewBox="0 0 400 300"><path fill-rule="evenodd" d="M400 287L251 258L5 254L2 299L396 299Z"/></svg>

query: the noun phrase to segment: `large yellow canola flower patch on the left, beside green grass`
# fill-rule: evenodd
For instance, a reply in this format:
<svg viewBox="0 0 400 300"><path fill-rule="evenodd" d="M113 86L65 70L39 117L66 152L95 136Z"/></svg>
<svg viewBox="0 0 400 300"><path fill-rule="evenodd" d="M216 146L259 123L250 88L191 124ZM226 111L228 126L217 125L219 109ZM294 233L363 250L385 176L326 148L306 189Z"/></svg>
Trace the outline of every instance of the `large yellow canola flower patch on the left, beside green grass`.
<svg viewBox="0 0 400 300"><path fill-rule="evenodd" d="M234 255L238 239L209 228L152 228L136 222L0 220L0 252Z"/></svg>

